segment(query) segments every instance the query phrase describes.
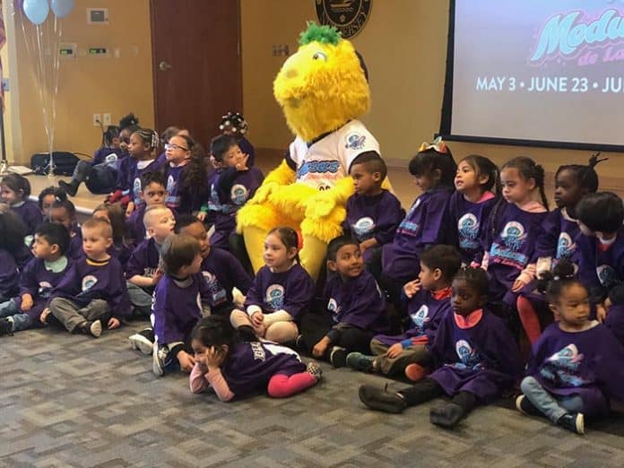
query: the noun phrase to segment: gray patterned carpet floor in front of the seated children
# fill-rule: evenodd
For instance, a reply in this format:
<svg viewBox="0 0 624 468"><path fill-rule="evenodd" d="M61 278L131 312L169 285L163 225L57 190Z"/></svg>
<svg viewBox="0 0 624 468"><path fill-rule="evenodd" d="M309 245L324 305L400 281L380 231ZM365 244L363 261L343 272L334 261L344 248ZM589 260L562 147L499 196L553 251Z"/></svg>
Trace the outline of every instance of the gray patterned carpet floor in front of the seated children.
<svg viewBox="0 0 624 468"><path fill-rule="evenodd" d="M366 410L358 386L388 380L329 365L305 394L220 403L182 374L154 377L127 342L142 325L0 338L0 466L624 466L621 414L581 437L508 401L449 431L429 423L436 402Z"/></svg>

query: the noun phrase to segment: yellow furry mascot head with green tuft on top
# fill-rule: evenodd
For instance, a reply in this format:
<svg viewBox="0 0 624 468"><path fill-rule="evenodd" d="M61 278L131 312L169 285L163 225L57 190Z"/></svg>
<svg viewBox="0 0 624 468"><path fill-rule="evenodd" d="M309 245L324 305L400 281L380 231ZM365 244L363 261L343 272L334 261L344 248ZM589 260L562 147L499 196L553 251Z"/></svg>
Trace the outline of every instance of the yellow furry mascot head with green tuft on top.
<svg viewBox="0 0 624 468"><path fill-rule="evenodd" d="M361 56L334 28L310 22L299 44L273 94L290 130L309 142L368 112L370 91Z"/></svg>

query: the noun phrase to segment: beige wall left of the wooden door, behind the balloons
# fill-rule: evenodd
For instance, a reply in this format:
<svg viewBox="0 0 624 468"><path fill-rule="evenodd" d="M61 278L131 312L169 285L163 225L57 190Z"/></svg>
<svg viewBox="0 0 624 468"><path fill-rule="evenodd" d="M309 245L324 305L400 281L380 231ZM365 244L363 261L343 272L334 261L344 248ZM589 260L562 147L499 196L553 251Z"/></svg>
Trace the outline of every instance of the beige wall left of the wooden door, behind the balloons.
<svg viewBox="0 0 624 468"><path fill-rule="evenodd" d="M87 7L108 8L108 25L87 24ZM33 62L23 40L21 15L13 18L15 33L9 40L17 45L17 69L12 68L9 76L11 92L19 93L19 106L5 115L13 124L9 140L14 152L9 153L9 160L23 163L34 152L47 152L48 143ZM48 16L46 21L52 19ZM79 56L61 62L54 149L91 154L101 139L100 128L92 125L95 113L111 113L112 123L117 125L120 117L134 111L143 126L153 126L149 0L79 1L61 21L62 41L77 43ZM26 32L34 33L30 22ZM81 51L93 46L108 48L110 56L80 56ZM115 48L119 49L119 58L113 56Z"/></svg>

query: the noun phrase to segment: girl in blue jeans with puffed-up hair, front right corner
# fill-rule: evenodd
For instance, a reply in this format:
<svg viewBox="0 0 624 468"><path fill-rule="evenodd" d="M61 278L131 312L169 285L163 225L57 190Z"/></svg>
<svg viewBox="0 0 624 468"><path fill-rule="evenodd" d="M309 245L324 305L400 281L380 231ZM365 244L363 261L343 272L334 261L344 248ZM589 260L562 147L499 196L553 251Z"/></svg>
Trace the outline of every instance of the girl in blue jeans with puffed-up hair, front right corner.
<svg viewBox="0 0 624 468"><path fill-rule="evenodd" d="M533 345L516 407L583 434L585 417L608 415L611 398L624 401L624 348L589 319L587 290L572 264L562 261L546 275L550 308L559 321Z"/></svg>

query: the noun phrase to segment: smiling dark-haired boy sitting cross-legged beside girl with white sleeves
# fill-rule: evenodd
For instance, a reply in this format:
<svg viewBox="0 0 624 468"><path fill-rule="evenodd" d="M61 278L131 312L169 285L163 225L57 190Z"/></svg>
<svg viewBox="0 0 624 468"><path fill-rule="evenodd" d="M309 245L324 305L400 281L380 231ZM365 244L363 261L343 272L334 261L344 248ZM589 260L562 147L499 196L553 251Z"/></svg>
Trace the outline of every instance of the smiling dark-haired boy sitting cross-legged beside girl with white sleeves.
<svg viewBox="0 0 624 468"><path fill-rule="evenodd" d="M303 342L298 341L311 347L316 358L340 368L345 365L347 353L368 354L370 339L388 331L386 299L373 275L364 268L356 239L332 239L327 246L327 267L335 274L325 285L326 313L309 314Z"/></svg>

